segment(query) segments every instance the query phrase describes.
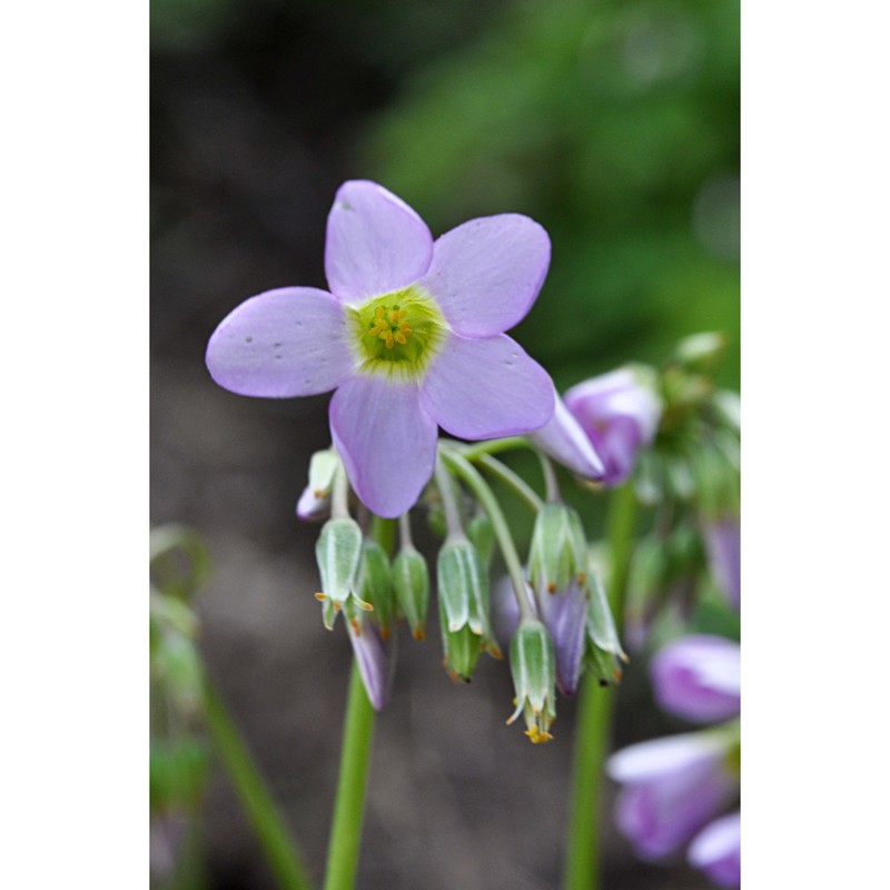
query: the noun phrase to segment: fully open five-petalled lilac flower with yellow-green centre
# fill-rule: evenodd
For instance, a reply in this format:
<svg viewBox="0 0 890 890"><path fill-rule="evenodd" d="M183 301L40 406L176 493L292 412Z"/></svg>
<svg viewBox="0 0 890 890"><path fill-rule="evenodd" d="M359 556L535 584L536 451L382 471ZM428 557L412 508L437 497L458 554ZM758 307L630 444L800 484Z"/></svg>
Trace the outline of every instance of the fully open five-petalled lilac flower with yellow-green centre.
<svg viewBox="0 0 890 890"><path fill-rule="evenodd" d="M340 186L327 220L327 290L251 297L210 337L226 389L290 398L336 389L330 431L353 488L395 517L433 474L437 427L464 439L522 435L554 409L547 373L504 332L532 307L550 238L517 214L433 240L382 186Z"/></svg>

